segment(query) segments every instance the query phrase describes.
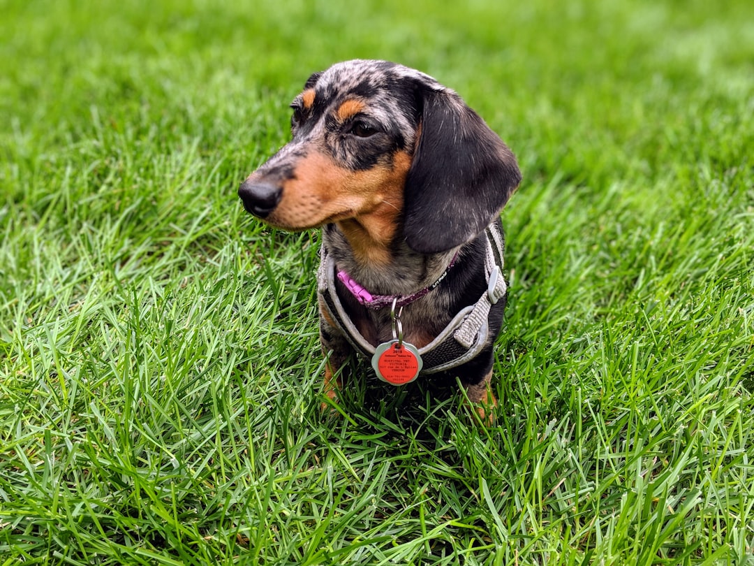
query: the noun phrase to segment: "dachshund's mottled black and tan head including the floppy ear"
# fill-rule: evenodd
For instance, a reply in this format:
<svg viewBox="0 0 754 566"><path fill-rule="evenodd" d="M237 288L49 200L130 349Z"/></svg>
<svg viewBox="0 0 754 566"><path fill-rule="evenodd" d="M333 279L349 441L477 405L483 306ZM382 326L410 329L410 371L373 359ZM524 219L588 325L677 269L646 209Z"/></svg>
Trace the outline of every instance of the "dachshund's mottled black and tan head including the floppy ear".
<svg viewBox="0 0 754 566"><path fill-rule="evenodd" d="M311 75L291 108L293 139L238 189L271 226L356 222L432 254L479 234L521 179L454 91L395 63L337 63Z"/></svg>

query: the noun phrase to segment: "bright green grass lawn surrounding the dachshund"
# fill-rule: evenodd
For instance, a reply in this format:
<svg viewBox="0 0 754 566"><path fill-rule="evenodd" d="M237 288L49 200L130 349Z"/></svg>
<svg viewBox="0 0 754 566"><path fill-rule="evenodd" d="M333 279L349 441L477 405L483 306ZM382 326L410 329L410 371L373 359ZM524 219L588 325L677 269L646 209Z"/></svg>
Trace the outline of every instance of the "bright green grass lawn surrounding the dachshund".
<svg viewBox="0 0 754 566"><path fill-rule="evenodd" d="M0 565L754 564L754 8L0 0ZM355 363L238 183L337 60L523 171L495 426Z"/></svg>

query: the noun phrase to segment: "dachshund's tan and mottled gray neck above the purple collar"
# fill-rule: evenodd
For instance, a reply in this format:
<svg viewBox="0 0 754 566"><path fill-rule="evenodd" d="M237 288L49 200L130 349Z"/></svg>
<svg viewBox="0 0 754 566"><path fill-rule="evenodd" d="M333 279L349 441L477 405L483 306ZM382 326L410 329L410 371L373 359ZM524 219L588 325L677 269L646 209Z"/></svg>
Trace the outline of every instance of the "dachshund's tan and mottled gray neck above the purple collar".
<svg viewBox="0 0 754 566"><path fill-rule="evenodd" d="M368 241L372 236L350 222L326 225L323 246L338 269L373 294L408 295L432 285L456 252L418 254L400 238Z"/></svg>

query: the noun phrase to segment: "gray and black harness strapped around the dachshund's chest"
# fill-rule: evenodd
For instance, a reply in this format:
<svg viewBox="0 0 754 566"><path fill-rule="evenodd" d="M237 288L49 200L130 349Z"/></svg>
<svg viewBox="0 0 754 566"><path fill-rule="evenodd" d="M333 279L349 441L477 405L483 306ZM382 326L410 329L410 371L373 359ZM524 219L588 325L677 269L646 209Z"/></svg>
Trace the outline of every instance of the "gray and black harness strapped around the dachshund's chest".
<svg viewBox="0 0 754 566"><path fill-rule="evenodd" d="M443 328L443 331L430 343L418 350L424 366L422 374L434 374L457 368L476 357L487 345L489 339L489 309L507 292L507 285L502 274L503 238L497 223L487 226L485 230L487 251L484 271L487 291L473 305L461 309ZM348 343L367 359L372 358L375 346L372 346L351 321L345 312L336 292L336 265L323 248L320 269L317 277L318 291L324 299L327 313L333 318Z"/></svg>

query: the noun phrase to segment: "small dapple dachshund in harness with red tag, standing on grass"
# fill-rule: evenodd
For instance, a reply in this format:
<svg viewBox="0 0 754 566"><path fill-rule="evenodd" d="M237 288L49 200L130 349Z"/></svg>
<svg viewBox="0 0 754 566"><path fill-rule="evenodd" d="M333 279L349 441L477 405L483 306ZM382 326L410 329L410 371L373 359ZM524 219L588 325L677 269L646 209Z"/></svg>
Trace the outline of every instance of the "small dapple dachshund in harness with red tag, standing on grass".
<svg viewBox="0 0 754 566"><path fill-rule="evenodd" d="M458 377L489 416L513 153L455 91L397 63L336 63L290 106L292 140L238 195L270 226L322 229L326 395L356 350L396 385Z"/></svg>

